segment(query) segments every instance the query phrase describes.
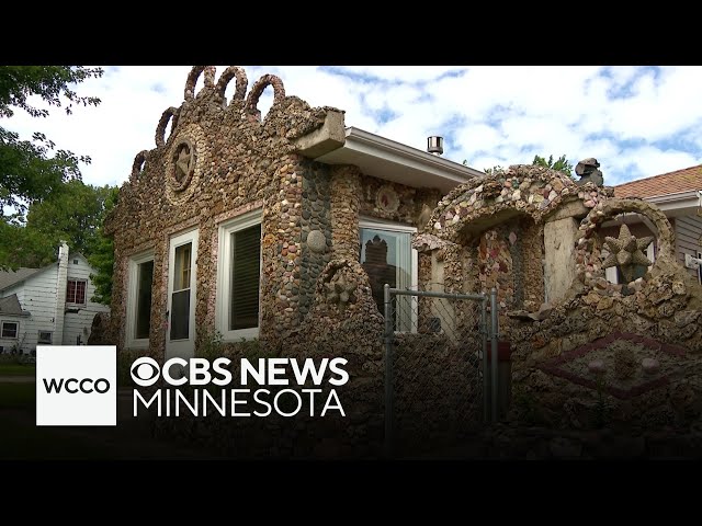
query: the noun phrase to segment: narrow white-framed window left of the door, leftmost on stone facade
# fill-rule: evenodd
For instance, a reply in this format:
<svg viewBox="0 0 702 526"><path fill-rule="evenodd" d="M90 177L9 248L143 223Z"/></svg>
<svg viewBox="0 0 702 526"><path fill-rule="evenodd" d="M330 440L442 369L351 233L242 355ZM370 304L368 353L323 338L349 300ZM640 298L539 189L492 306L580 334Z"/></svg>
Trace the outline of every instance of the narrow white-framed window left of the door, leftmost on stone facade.
<svg viewBox="0 0 702 526"><path fill-rule="evenodd" d="M154 251L129 259L127 290L127 346L145 348L149 345L151 327L151 289L154 284Z"/></svg>

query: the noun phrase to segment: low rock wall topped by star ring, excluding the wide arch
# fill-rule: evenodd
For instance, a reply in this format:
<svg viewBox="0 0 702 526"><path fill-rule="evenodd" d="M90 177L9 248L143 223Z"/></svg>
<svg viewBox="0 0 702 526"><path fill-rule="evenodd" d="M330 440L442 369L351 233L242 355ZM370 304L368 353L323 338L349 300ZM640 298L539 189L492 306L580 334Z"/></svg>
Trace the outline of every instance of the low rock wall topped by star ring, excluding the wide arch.
<svg viewBox="0 0 702 526"><path fill-rule="evenodd" d="M654 225L658 255L644 277L612 284L600 227L621 213ZM609 199L581 221L575 243L567 299L508 333L518 393L511 418L554 427L689 428L702 415L702 287L676 260L670 224L646 202Z"/></svg>

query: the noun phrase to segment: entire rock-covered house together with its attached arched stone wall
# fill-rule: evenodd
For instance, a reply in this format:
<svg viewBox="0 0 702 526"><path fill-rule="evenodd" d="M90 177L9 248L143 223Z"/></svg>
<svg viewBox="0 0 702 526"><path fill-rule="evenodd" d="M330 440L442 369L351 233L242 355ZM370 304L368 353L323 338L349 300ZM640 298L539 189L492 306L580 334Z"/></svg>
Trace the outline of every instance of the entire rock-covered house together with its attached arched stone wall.
<svg viewBox="0 0 702 526"><path fill-rule="evenodd" d="M247 85L240 68L216 78L213 67L194 67L183 103L157 125L156 148L134 160L105 222L115 248L110 340L121 351L189 357L218 332L230 344L258 339L286 355L343 355L352 415L315 425L336 426L336 450L367 453L382 437L389 354L381 286L495 288L521 400L510 418L587 428L604 408L611 421L655 427L702 414L702 287L676 255L664 211L618 198L597 160L578 164L579 182L533 165L485 175L346 127L343 112L287 96L274 76L248 94ZM269 85L273 105L261 119L257 104ZM610 233L622 215L652 226L655 262L644 252L647 236ZM613 267L624 282L608 279ZM427 317L418 304L418 318ZM462 425L455 402L466 388L479 391L466 381L482 367L471 359L479 353L476 312L448 311L462 339L394 320L406 345L392 366L411 378L395 385L395 409L409 408L404 421L424 427L423 437ZM251 422L236 425L269 425ZM184 419L166 425L195 427ZM206 439L241 454L227 438L237 436L233 426L206 425L214 426ZM296 432L279 439L275 425L251 435L250 453L273 443L312 450L326 436L309 426L301 446Z"/></svg>

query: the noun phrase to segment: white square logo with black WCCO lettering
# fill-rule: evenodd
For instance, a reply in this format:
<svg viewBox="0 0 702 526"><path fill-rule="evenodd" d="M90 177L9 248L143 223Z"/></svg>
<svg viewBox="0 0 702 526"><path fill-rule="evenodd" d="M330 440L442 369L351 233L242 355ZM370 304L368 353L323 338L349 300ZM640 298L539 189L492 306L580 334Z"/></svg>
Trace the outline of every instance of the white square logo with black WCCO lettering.
<svg viewBox="0 0 702 526"><path fill-rule="evenodd" d="M116 425L116 347L38 345L36 425Z"/></svg>

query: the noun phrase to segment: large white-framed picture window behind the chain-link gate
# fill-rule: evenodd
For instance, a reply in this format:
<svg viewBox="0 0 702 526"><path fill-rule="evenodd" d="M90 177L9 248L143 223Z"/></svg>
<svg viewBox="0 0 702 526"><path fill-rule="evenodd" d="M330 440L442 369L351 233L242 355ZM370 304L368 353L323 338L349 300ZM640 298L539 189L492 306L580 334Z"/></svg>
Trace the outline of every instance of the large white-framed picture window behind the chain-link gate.
<svg viewBox="0 0 702 526"><path fill-rule="evenodd" d="M416 231L414 227L373 219L360 222L361 265L369 275L381 315L385 315L385 284L392 288L417 290L417 251L411 248L411 235ZM416 297L393 297L392 310L396 331L416 328Z"/></svg>

